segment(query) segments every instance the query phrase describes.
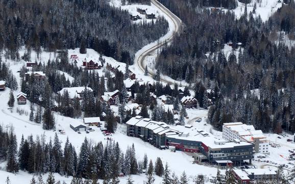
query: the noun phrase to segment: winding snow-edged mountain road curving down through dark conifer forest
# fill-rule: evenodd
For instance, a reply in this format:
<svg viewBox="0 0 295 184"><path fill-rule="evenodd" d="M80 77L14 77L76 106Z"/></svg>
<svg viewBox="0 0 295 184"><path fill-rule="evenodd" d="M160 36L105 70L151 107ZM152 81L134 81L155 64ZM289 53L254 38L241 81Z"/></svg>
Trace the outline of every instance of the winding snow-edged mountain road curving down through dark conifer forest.
<svg viewBox="0 0 295 184"><path fill-rule="evenodd" d="M151 3L155 5L157 8L159 8L167 17L169 17L173 22L174 30L173 33L170 34L165 40L162 40L161 38L157 41L157 44L151 44L147 47L144 47L144 49L141 49L139 53L134 58L134 63L143 73L145 69L144 60L147 56L151 55L154 51L156 51L158 48L163 46L165 44L165 41L167 43L171 42L173 40L173 37L178 34L182 30L182 21L180 18L178 18L175 14L173 14L170 10L168 10L164 5L159 3L157 0L151 0ZM164 36L165 37L165 36ZM148 75L153 77L154 72L153 70L148 70ZM167 84L173 84L175 83L174 80L169 80L163 76L160 77L160 81Z"/></svg>

